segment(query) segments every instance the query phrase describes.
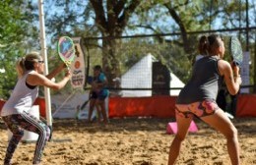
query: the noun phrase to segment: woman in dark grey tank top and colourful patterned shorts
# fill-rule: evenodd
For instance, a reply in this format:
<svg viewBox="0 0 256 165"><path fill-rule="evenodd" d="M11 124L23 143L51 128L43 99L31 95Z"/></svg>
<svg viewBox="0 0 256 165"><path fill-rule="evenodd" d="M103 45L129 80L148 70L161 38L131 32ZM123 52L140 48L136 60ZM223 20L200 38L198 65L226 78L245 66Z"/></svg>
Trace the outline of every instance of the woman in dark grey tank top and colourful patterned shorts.
<svg viewBox="0 0 256 165"><path fill-rule="evenodd" d="M216 34L202 36L199 42L199 48L201 49L199 49L200 51L205 52L206 56L196 62L193 71L195 75L192 76L190 83L185 85L178 97L175 106L177 133L169 148L168 165L175 163L179 155L181 143L186 137L190 124L195 116L224 135L230 162L232 165L239 165L237 130L224 111L216 104L215 93L218 92L219 88L218 85L217 87L212 85L217 84L213 81L224 78L224 83L229 93L232 95L236 94L241 84L239 68L223 60L224 41L221 36ZM217 65L208 65L211 59L218 59L216 62ZM202 65L204 66L203 68ZM198 75L196 73L201 74ZM208 98L208 95L212 95L211 99ZM206 138L206 140L209 139Z"/></svg>

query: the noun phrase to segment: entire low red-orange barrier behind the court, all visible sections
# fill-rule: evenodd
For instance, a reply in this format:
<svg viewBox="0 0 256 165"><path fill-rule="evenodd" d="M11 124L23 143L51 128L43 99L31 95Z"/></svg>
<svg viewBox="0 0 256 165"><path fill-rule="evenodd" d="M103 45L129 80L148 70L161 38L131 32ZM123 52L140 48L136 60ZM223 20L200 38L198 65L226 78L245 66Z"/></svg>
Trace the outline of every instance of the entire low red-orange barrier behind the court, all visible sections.
<svg viewBox="0 0 256 165"><path fill-rule="evenodd" d="M152 97L109 97L109 118L123 117L159 117L175 116L176 96ZM0 99L0 111L5 100ZM40 116L45 117L45 100L36 98ZM256 117L256 94L240 94L236 104L236 117Z"/></svg>

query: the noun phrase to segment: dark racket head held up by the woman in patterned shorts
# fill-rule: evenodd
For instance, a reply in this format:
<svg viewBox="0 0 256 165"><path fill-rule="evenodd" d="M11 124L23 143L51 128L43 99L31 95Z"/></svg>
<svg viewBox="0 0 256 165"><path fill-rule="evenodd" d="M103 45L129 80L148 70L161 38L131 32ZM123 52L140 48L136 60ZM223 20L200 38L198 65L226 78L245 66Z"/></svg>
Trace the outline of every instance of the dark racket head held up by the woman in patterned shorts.
<svg viewBox="0 0 256 165"><path fill-rule="evenodd" d="M229 52L232 57L234 65L240 66L243 60L243 53L241 43L236 36L230 37Z"/></svg>

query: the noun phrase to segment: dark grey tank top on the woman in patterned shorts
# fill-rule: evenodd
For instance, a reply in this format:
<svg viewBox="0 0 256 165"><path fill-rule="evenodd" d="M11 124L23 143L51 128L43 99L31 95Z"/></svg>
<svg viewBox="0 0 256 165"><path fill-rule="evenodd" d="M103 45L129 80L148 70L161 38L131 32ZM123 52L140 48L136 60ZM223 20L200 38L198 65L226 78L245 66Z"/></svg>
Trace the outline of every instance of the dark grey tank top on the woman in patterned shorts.
<svg viewBox="0 0 256 165"><path fill-rule="evenodd" d="M194 64L190 81L179 93L178 104L190 104L205 99L216 101L224 80L219 73L219 60L216 56L207 56Z"/></svg>

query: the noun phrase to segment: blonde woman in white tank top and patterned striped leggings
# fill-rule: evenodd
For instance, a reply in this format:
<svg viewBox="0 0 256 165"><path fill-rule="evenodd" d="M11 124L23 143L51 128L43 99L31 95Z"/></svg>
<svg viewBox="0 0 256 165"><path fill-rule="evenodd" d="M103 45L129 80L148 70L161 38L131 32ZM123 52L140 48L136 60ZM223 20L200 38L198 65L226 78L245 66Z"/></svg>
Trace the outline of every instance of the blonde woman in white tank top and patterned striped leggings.
<svg viewBox="0 0 256 165"><path fill-rule="evenodd" d="M50 80L59 74L65 65L61 64L49 75L43 76L43 64L44 62L37 52L29 53L17 62L19 81L1 111L5 125L13 133L6 150L4 165L11 164L16 147L24 136L24 130L38 134L32 164L40 163L42 151L51 133L49 127L29 114L28 110L32 108L37 97L39 85L61 89L71 77L68 71L62 81L54 83Z"/></svg>

